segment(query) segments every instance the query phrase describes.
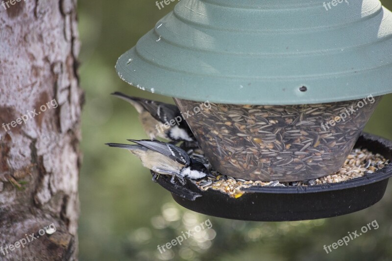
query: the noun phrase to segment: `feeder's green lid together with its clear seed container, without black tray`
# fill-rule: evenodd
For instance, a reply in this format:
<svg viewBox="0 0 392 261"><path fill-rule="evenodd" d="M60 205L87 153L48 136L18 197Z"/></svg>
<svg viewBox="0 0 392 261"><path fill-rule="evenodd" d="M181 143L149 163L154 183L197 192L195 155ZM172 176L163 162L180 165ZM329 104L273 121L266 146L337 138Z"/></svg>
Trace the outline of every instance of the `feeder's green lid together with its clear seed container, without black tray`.
<svg viewBox="0 0 392 261"><path fill-rule="evenodd" d="M341 168L392 93L391 49L378 0L182 0L116 70L190 113L220 173L299 181Z"/></svg>

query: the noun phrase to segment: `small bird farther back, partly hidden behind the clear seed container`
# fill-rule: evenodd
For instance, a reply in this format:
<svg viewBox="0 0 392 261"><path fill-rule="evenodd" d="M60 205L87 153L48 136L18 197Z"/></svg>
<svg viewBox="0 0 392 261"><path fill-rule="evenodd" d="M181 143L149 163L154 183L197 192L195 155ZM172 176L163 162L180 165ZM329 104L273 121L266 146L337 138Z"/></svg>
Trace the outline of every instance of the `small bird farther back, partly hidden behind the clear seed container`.
<svg viewBox="0 0 392 261"><path fill-rule="evenodd" d="M131 97L120 92L112 93L112 95L131 103L136 108L139 113L139 120L150 139L154 140L160 137L174 143L195 141L188 123L182 117L177 106Z"/></svg>

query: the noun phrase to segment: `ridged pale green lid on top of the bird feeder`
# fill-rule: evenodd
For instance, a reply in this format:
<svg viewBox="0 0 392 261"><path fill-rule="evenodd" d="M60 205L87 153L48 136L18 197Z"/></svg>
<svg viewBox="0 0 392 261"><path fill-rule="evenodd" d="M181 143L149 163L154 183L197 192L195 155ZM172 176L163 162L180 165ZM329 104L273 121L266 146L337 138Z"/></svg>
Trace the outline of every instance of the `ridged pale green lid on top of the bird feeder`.
<svg viewBox="0 0 392 261"><path fill-rule="evenodd" d="M146 91L228 104L392 93L391 12L378 0L328 2L181 0L116 70Z"/></svg>

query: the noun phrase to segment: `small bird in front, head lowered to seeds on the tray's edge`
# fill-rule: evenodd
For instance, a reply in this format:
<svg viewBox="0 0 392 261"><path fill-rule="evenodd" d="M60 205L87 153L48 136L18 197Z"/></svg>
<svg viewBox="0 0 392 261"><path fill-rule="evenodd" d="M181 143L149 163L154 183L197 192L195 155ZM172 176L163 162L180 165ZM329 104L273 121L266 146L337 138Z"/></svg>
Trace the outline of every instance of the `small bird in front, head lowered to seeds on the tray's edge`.
<svg viewBox="0 0 392 261"><path fill-rule="evenodd" d="M159 174L171 175L172 183L175 177L184 185L185 177L201 179L207 175L207 168L202 163L190 158L185 150L171 143L154 140L128 141L136 144L106 143L106 145L129 150L142 161L143 166ZM156 180L156 175L152 180Z"/></svg>

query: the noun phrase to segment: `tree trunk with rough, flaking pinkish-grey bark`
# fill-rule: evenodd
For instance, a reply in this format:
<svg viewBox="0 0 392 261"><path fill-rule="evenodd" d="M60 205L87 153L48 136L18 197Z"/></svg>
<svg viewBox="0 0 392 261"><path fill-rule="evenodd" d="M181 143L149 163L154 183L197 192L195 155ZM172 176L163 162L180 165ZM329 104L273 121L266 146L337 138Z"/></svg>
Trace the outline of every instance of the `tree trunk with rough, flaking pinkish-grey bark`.
<svg viewBox="0 0 392 261"><path fill-rule="evenodd" d="M76 0L1 1L0 260L76 260Z"/></svg>

